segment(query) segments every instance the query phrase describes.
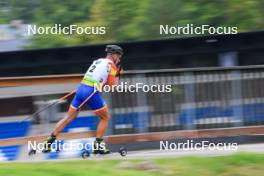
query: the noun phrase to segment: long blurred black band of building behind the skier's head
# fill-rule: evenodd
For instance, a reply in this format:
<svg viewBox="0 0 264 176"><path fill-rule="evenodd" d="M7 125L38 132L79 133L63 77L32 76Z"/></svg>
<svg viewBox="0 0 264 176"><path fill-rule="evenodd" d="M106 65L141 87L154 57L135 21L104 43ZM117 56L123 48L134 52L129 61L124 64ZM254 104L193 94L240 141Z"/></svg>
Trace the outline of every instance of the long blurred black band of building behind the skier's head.
<svg viewBox="0 0 264 176"><path fill-rule="evenodd" d="M264 32L129 42L119 45L125 50L125 70L264 64ZM105 45L101 44L2 52L0 76L84 73L94 59L105 56L104 49Z"/></svg>

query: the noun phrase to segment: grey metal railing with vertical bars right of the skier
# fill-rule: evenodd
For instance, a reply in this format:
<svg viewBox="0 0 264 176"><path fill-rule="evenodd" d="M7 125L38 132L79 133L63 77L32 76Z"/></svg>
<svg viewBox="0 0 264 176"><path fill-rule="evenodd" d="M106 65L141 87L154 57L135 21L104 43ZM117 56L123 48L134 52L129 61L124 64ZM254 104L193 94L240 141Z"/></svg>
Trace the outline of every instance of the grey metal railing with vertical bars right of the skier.
<svg viewBox="0 0 264 176"><path fill-rule="evenodd" d="M262 66L130 72L122 82L172 91L104 93L114 134L264 124Z"/></svg>

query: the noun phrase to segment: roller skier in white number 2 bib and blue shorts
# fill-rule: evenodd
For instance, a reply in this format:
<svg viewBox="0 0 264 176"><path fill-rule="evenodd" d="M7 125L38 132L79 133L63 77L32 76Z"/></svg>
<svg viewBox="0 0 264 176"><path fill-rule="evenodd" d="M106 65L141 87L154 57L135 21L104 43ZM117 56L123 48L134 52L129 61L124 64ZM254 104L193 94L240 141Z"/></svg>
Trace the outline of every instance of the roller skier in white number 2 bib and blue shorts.
<svg viewBox="0 0 264 176"><path fill-rule="evenodd" d="M79 113L79 107L85 102L94 111L95 115L100 118L99 124L95 133L94 145L103 143L103 136L105 134L107 124L110 118L108 108L102 99L99 91L100 86L116 85L118 83L118 76L120 69L117 67L123 56L123 49L117 45L107 45L105 49L107 55L105 58L95 60L88 68L84 75L75 97L73 98L67 116L60 120L51 135L44 142L44 153L51 151L51 144L56 140L56 136L69 124ZM108 154L109 149L106 147L94 147L93 153Z"/></svg>

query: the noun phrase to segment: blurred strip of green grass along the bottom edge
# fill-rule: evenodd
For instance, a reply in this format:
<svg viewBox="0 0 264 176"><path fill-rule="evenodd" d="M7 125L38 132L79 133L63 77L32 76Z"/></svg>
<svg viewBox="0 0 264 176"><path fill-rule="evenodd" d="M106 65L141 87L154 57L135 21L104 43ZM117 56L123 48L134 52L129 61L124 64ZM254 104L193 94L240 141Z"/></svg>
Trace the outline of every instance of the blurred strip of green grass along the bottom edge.
<svg viewBox="0 0 264 176"><path fill-rule="evenodd" d="M3 163L3 176L261 176L264 154L180 157L151 160L77 160Z"/></svg>

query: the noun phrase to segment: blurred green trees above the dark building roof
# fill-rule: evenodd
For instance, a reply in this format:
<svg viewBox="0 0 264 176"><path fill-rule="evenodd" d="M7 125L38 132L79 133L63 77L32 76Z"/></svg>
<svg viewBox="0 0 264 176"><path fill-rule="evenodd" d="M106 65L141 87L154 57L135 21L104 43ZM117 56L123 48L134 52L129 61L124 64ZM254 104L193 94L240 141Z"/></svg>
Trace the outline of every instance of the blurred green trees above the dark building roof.
<svg viewBox="0 0 264 176"><path fill-rule="evenodd" d="M53 26L105 26L105 35L34 36L30 48L181 37L158 35L159 25L237 26L239 32L263 30L263 0L2 0L0 23Z"/></svg>

